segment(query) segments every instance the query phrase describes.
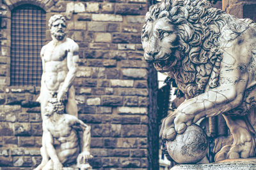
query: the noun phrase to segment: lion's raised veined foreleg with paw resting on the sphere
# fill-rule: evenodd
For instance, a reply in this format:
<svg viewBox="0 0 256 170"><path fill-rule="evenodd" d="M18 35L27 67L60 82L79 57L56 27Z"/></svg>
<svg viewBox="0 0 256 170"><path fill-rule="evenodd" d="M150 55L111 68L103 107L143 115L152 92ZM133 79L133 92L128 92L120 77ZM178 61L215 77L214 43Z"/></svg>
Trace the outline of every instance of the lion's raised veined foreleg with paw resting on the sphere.
<svg viewBox="0 0 256 170"><path fill-rule="evenodd" d="M241 73L237 68L237 64L222 64L220 85L180 104L172 115L164 119L160 136L172 140L176 133L182 134L192 122L239 106L248 83L248 73Z"/></svg>

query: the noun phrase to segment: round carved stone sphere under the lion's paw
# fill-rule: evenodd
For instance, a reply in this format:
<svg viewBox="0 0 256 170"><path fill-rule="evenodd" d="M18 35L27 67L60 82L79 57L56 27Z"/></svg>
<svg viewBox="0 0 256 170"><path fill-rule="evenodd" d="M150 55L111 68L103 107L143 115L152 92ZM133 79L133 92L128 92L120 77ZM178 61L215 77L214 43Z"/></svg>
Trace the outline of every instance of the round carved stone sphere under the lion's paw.
<svg viewBox="0 0 256 170"><path fill-rule="evenodd" d="M173 141L166 141L167 151L179 164L191 164L202 160L209 148L204 130L198 125L187 127L183 134L177 134Z"/></svg>

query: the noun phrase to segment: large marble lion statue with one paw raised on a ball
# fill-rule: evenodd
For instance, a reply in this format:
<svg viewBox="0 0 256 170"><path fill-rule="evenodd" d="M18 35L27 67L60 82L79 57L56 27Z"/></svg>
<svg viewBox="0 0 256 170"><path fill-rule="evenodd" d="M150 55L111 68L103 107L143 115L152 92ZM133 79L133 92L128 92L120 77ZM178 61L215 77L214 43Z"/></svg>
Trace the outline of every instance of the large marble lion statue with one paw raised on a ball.
<svg viewBox="0 0 256 170"><path fill-rule="evenodd" d="M145 60L186 97L164 118L160 137L172 141L201 118L222 114L234 142L215 161L254 157L256 24L205 0L165 0L150 6L141 38Z"/></svg>

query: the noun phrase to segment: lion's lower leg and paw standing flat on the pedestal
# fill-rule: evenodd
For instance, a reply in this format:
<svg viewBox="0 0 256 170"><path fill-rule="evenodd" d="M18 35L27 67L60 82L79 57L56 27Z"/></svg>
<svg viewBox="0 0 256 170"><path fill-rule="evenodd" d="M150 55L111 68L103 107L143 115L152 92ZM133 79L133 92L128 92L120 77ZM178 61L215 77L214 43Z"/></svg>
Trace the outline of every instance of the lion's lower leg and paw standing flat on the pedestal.
<svg viewBox="0 0 256 170"><path fill-rule="evenodd" d="M255 139L252 126L246 120L246 116L234 117L223 115L223 117L227 122L234 141L232 145L224 146L220 152L216 153L215 161L254 157Z"/></svg>

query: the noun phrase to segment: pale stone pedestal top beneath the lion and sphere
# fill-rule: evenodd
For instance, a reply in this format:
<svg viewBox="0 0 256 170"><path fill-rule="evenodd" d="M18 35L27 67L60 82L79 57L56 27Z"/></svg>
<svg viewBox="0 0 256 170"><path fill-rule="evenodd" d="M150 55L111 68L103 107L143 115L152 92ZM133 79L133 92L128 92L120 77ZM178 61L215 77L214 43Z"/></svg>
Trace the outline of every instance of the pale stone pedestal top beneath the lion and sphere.
<svg viewBox="0 0 256 170"><path fill-rule="evenodd" d="M251 159L229 159L211 164L183 164L172 167L170 170L248 170L256 169L256 158Z"/></svg>

